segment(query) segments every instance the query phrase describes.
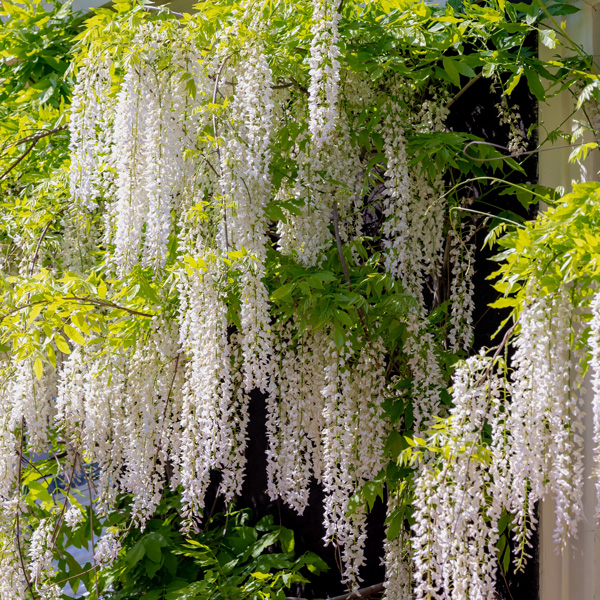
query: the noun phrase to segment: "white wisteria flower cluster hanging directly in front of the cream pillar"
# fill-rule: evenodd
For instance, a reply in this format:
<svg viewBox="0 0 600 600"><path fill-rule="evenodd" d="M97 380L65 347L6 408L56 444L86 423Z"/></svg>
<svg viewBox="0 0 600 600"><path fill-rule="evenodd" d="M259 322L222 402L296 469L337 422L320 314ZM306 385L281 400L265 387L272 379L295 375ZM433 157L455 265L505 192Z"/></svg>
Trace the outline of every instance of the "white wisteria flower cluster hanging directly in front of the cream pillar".
<svg viewBox="0 0 600 600"><path fill-rule="evenodd" d="M570 292L537 298L521 315L508 417L511 435L511 510L527 544L534 505L556 502L555 541L577 535L582 518L583 410L581 331ZM531 427L531 423L538 426Z"/></svg>

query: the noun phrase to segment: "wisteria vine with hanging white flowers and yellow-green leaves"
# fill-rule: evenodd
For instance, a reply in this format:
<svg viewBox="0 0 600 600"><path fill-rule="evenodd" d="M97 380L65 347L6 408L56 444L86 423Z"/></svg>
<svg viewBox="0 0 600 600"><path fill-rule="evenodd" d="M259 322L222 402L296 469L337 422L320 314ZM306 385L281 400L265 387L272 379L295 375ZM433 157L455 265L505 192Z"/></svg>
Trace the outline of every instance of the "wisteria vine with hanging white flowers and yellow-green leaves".
<svg viewBox="0 0 600 600"><path fill-rule="evenodd" d="M256 393L268 495L302 514L319 482L349 591L377 494L388 600L492 597L543 498L557 544L576 534L590 364L595 403L600 388L598 189L522 182L536 137L511 101L568 88L593 113L589 57L550 71L534 48L569 44L557 19L573 10L117 2L78 25L72 93L15 88L51 126L21 122L0 178L0 598L60 598L73 579L111 597L103 573L169 495L193 541L211 474L227 504L241 493ZM482 81L502 148L447 124ZM494 217L498 190L551 208ZM480 350L486 229L505 247L496 308L513 312ZM64 559L84 527L87 570ZM285 597L295 577L240 597Z"/></svg>

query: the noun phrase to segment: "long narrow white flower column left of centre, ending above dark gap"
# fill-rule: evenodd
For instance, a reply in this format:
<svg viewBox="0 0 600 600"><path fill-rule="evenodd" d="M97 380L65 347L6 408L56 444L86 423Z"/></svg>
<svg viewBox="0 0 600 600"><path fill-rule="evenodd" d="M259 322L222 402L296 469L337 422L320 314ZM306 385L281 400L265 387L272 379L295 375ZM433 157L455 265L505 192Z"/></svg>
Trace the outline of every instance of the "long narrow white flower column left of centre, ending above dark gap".
<svg viewBox="0 0 600 600"><path fill-rule="evenodd" d="M272 333L264 263L267 253L265 208L271 199L271 137L273 79L266 57L257 45L248 46L238 67L232 113L237 127L225 152L226 181L222 185L233 203L232 245L250 257L241 278L241 326L244 385L247 391L266 391L271 377Z"/></svg>

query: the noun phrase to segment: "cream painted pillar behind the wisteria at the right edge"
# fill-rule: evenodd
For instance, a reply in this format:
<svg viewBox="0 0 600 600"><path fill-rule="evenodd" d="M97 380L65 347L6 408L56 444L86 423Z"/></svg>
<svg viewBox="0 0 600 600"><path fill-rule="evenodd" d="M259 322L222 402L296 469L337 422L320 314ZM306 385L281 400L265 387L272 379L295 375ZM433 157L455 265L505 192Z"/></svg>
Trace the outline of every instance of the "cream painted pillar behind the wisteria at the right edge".
<svg viewBox="0 0 600 600"><path fill-rule="evenodd" d="M566 20L570 37L600 60L600 0L580 0L581 11ZM560 49L550 50L540 45L540 55L549 59ZM564 49L563 49L564 52ZM574 99L564 92L548 104L541 104L539 119L540 140L546 131L559 127L572 112ZM577 118L577 115L575 115ZM571 124L565 123L571 130ZM559 140L556 146L567 142ZM539 156L539 179L542 185L563 186L568 192L572 181L595 180L600 169L600 152L593 152L583 165L569 164L570 148L542 152ZM591 411L591 383L587 381L586 433L585 433L585 483L583 497L584 519L579 524L578 538L572 540L562 554L558 554L552 539L554 532L554 503L546 501L540 508L540 600L600 600L600 529L594 522L596 494L594 482L590 479L593 467L594 447L592 441L593 423Z"/></svg>

